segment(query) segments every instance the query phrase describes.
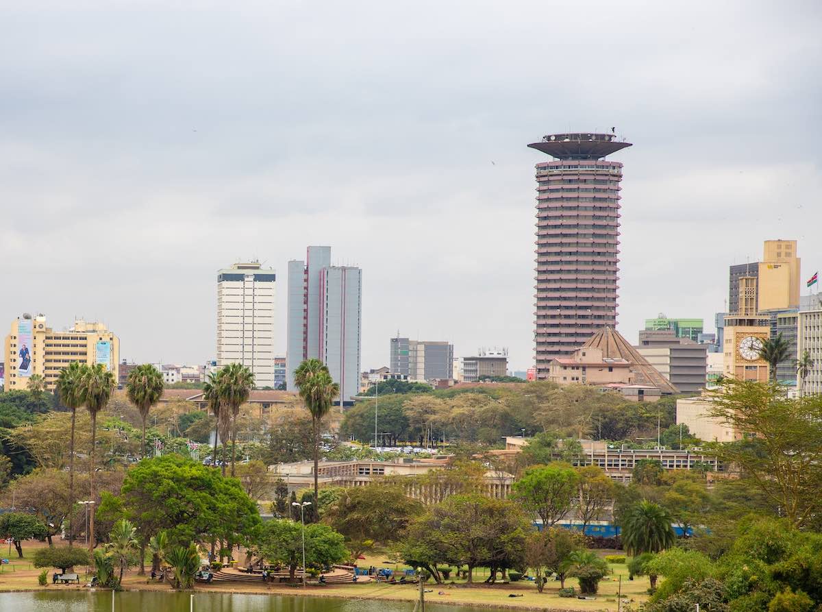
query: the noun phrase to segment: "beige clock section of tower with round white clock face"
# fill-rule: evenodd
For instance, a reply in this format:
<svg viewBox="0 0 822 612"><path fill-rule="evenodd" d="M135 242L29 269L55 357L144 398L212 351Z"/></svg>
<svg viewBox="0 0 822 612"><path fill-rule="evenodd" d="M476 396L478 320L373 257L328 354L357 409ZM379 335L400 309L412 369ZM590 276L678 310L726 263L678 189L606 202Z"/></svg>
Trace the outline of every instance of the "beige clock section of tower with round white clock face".
<svg viewBox="0 0 822 612"><path fill-rule="evenodd" d="M760 357L760 348L769 337L770 325L767 318L743 315L727 317L723 342L725 376L766 383L769 366Z"/></svg>

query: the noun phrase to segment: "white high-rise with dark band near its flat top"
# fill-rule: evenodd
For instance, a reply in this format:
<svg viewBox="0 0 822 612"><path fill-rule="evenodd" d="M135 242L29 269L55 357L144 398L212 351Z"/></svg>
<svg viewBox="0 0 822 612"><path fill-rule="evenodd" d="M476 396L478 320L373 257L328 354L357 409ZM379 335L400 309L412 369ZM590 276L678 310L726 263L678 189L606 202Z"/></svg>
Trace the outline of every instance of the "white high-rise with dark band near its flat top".
<svg viewBox="0 0 822 612"><path fill-rule="evenodd" d="M217 365L246 366L256 387L274 387L275 281L260 262L217 272Z"/></svg>

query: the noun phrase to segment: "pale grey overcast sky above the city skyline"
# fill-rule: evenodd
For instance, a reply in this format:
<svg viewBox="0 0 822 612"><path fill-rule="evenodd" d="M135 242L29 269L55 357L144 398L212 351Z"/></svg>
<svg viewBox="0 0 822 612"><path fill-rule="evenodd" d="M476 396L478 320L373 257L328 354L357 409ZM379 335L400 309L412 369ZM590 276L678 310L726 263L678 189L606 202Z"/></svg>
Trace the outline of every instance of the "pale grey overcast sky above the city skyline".
<svg viewBox="0 0 822 612"><path fill-rule="evenodd" d="M216 271L329 244L363 369L399 330L533 362L533 165L617 133L619 328L704 318L727 266L822 267L820 2L0 0L0 322L215 356ZM803 285L804 288L804 285ZM3 332L3 333L7 333Z"/></svg>

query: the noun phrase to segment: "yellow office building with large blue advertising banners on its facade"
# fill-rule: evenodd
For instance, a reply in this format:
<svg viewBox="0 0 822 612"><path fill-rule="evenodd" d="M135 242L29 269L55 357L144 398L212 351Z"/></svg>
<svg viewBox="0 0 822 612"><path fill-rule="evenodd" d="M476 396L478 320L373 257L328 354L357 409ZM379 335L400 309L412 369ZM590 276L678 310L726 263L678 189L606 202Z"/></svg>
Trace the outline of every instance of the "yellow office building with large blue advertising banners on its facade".
<svg viewBox="0 0 822 612"><path fill-rule="evenodd" d="M103 323L76 319L66 331L48 327L45 315L24 314L12 322L6 336L6 391L25 391L33 374L42 376L53 391L60 370L72 361L103 364L118 374L120 340Z"/></svg>

